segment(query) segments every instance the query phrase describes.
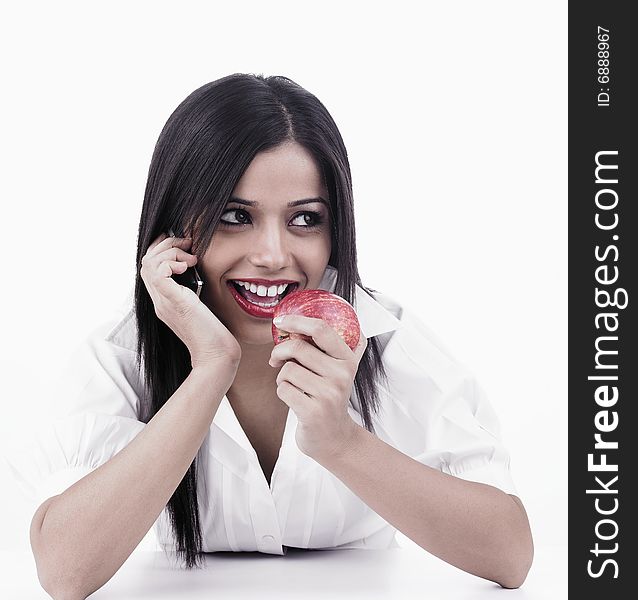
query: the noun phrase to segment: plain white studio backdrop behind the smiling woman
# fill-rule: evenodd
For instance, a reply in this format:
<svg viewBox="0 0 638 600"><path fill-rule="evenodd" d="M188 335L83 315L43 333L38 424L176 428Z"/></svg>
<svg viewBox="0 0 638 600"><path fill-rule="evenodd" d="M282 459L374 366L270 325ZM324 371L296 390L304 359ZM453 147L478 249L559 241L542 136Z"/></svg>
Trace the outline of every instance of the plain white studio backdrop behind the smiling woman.
<svg viewBox="0 0 638 600"><path fill-rule="evenodd" d="M0 22L3 445L132 286L170 113L281 74L344 137L364 283L477 374L537 547L566 543L566 2L22 2ZM26 548L8 477L0 548Z"/></svg>

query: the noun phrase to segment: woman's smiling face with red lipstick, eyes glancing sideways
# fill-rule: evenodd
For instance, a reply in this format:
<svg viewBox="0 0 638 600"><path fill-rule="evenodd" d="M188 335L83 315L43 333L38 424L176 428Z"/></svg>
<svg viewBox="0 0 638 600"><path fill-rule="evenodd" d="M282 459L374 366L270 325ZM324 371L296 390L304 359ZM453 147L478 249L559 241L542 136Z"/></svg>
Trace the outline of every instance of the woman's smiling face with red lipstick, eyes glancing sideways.
<svg viewBox="0 0 638 600"><path fill-rule="evenodd" d="M295 142L257 154L239 180L197 268L202 300L240 343L272 345L279 294L319 286L331 251L327 201L312 154Z"/></svg>

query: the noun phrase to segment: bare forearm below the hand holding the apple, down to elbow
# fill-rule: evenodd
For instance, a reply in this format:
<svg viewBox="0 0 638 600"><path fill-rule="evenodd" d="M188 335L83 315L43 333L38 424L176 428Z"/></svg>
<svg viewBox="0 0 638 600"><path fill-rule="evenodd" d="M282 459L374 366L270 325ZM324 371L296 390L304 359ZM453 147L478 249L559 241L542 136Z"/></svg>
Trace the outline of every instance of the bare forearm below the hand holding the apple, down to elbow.
<svg viewBox="0 0 638 600"><path fill-rule="evenodd" d="M431 554L503 587L525 580L533 543L517 499L427 467L356 424L341 452L315 460Z"/></svg>

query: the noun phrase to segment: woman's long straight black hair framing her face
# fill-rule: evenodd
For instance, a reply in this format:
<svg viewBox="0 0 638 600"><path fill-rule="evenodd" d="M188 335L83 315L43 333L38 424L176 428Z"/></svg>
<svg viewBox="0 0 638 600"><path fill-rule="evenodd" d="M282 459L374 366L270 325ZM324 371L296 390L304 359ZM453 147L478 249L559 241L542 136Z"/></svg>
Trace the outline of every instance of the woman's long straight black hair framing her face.
<svg viewBox="0 0 638 600"><path fill-rule="evenodd" d="M234 74L196 89L175 109L160 133L140 217L135 315L137 364L143 372L146 394L141 399L140 419L145 423L188 377L191 361L185 344L155 314L140 277L142 257L152 241L169 228L178 236L191 235L190 252L199 256L208 248L233 189L255 155L290 141L314 156L324 176L331 213L329 264L337 269L335 293L352 303L355 286L364 287L357 268L348 155L324 105L282 76ZM354 381L363 424L372 432L371 412L376 415L379 410L379 378L387 375L373 337ZM200 566L197 456L166 508L178 558L186 568Z"/></svg>

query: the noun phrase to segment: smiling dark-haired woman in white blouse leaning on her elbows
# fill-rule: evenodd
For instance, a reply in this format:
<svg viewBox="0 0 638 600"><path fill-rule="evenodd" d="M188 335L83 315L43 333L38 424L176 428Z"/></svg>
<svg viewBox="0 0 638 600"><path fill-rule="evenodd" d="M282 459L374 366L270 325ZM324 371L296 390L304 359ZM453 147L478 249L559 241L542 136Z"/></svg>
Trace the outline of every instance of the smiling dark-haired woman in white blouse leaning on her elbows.
<svg viewBox="0 0 638 600"><path fill-rule="evenodd" d="M417 317L363 287L346 149L312 94L254 75L190 94L155 148L137 265L54 436L75 445L31 527L49 593L92 593L154 523L187 567L200 551L387 548L398 529L521 585L532 538L496 417ZM175 279L194 266L200 297ZM299 316L279 326L314 345L274 346L295 288L355 306L354 351Z"/></svg>

